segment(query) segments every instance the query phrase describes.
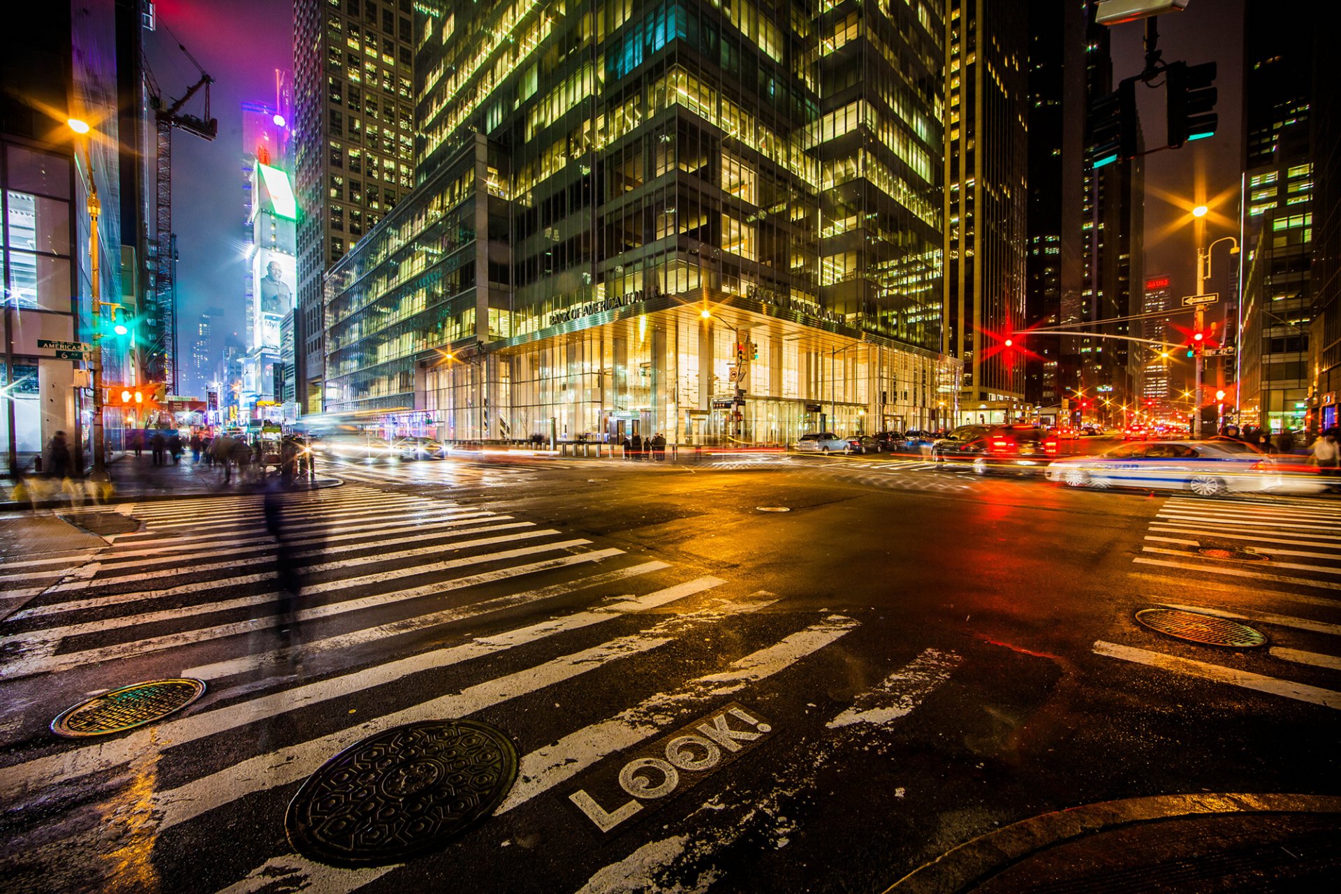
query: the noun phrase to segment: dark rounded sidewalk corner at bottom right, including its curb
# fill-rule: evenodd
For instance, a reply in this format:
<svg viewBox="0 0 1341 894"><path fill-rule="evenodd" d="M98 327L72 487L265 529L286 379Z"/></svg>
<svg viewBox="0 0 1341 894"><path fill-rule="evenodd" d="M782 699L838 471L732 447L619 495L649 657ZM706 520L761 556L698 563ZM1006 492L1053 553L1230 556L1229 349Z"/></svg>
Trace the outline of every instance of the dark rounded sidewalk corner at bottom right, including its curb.
<svg viewBox="0 0 1341 894"><path fill-rule="evenodd" d="M1336 890L1338 835L1341 797L1334 796L1133 797L988 832L886 894Z"/></svg>

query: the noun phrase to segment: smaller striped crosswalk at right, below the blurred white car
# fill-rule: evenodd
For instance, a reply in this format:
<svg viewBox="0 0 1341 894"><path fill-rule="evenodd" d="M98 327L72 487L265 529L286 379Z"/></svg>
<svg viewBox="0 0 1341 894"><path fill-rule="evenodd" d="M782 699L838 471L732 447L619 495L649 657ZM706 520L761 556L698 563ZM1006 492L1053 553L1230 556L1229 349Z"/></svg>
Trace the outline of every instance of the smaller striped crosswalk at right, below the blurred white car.
<svg viewBox="0 0 1341 894"><path fill-rule="evenodd" d="M1148 525L1136 580L1179 595L1152 607L1244 623L1270 646L1252 667L1100 641L1094 653L1341 709L1341 505L1309 499L1169 497Z"/></svg>

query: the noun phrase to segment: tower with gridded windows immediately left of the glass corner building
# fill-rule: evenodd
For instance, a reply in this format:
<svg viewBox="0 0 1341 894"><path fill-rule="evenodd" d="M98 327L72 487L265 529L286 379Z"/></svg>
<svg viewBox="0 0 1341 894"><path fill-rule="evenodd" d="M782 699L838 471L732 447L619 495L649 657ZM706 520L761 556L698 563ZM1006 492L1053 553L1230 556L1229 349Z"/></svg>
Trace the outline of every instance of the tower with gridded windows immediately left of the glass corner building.
<svg viewBox="0 0 1341 894"><path fill-rule="evenodd" d="M294 344L304 413L322 409L322 276L413 185L413 16L410 0L294 3Z"/></svg>

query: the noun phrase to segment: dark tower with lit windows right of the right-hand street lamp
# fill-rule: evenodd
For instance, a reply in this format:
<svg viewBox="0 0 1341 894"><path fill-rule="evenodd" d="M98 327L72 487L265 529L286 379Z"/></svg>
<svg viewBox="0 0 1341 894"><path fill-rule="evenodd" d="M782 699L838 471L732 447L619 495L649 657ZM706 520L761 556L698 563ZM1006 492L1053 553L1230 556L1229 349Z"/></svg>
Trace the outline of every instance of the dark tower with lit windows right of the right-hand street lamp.
<svg viewBox="0 0 1341 894"><path fill-rule="evenodd" d="M1313 44L1259 0L1246 5L1244 196L1250 256L1239 316L1240 421L1305 428L1313 319Z"/></svg>

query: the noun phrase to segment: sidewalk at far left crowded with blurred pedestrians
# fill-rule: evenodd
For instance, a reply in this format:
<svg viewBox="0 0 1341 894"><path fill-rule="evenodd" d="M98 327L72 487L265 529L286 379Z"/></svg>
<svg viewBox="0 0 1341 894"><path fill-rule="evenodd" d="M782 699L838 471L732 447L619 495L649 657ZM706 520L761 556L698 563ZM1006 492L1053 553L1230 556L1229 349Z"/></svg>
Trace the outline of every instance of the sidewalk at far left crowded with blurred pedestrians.
<svg viewBox="0 0 1341 894"><path fill-rule="evenodd" d="M256 480L240 483L236 468L232 484L224 484L223 469L219 465L205 465L204 460L193 464L190 453L184 454L178 465L173 465L169 460L168 465L161 466L153 464L148 450L139 457L123 453L107 464L107 473L111 476L109 484L97 484L87 478L62 483L44 477L27 477L17 484L5 483L0 493L0 511L68 509L113 503L257 493L263 489L261 483ZM323 474L320 465L316 474L315 481L299 478L294 487L329 488L341 483L339 478Z"/></svg>

